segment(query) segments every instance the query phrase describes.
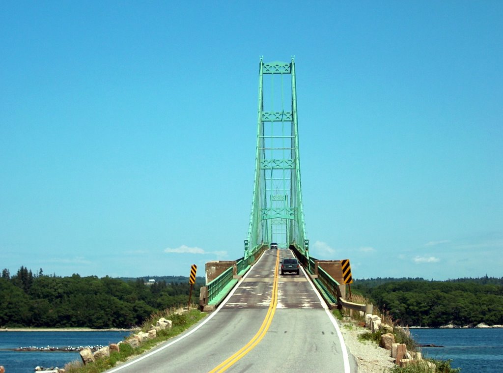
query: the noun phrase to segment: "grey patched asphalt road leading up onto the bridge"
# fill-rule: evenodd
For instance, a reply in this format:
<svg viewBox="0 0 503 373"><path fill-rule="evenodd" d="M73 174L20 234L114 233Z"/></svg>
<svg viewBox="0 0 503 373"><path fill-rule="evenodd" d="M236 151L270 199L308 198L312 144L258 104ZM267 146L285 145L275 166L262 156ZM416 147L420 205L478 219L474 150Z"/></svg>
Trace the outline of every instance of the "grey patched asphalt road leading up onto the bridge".
<svg viewBox="0 0 503 373"><path fill-rule="evenodd" d="M278 252L280 257L293 257L289 250ZM267 251L227 302L208 318L173 341L108 372L223 371L214 369L250 341L255 341L253 349L238 356L225 371L356 372L337 322L304 272L299 276L280 274L275 279L276 260L277 251ZM270 307L271 301L276 307ZM259 331L261 337L257 337Z"/></svg>

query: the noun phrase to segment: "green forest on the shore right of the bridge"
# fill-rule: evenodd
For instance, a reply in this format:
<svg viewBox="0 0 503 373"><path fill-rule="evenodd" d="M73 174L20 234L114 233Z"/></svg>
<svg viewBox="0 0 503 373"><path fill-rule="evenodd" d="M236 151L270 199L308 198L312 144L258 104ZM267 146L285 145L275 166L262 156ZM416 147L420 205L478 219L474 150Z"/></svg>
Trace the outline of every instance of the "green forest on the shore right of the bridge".
<svg viewBox="0 0 503 373"><path fill-rule="evenodd" d="M402 325L440 327L503 324L503 277L429 281L423 278L355 280L368 297Z"/></svg>

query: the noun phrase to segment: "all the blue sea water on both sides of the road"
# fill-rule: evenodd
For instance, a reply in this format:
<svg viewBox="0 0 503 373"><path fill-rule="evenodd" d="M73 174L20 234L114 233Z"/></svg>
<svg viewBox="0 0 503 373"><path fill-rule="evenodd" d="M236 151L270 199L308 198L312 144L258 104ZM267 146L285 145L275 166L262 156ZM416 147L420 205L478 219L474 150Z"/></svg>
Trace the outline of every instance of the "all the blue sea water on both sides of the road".
<svg viewBox="0 0 503 373"><path fill-rule="evenodd" d="M411 329L423 354L452 359L462 373L503 372L503 329ZM130 332L0 332L0 365L6 373L32 373L35 366L59 366L80 360L78 352L17 352L26 346L94 346L117 343Z"/></svg>

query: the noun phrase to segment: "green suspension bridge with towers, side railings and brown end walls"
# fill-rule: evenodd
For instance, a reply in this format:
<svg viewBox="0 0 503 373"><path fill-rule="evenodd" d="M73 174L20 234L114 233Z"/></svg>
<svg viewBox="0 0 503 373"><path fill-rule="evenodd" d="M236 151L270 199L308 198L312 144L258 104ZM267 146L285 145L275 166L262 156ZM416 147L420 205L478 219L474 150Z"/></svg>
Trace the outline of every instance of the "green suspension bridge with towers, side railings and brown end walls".
<svg viewBox="0 0 503 373"><path fill-rule="evenodd" d="M255 180L244 255L233 262L206 264L207 284L201 290L201 308L217 307L271 243L290 249L327 303L335 307L345 297L345 285L352 282L351 266L347 259L319 261L309 255L293 57L290 62L260 59L258 96Z"/></svg>

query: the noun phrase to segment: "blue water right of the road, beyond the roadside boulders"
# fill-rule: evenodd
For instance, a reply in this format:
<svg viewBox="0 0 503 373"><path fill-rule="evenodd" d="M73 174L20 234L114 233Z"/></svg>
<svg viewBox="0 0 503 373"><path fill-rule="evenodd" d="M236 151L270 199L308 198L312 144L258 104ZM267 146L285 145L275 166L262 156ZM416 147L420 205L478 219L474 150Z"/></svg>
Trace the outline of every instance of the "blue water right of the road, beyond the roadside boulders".
<svg viewBox="0 0 503 373"><path fill-rule="evenodd" d="M424 356L451 359L461 373L503 372L503 329L411 329Z"/></svg>

